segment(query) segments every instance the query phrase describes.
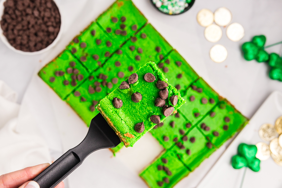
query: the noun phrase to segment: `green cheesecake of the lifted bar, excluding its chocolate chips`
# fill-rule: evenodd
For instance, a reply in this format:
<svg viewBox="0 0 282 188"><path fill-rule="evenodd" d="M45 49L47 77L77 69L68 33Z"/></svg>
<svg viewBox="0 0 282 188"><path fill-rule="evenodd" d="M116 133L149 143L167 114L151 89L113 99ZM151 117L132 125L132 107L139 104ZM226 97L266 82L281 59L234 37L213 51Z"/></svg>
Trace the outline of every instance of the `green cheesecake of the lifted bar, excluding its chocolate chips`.
<svg viewBox="0 0 282 188"><path fill-rule="evenodd" d="M130 89L121 90L116 88L103 98L98 105L98 110L105 116L109 125L118 133L118 136L125 143L126 147L133 146L139 138L156 125L150 120L152 115L159 116L160 121L166 118L163 114L163 108L155 106L155 99L159 97L160 91L156 86L157 81L162 80L168 83L162 72L157 68L155 63L148 62L135 73L138 75L138 81L130 84ZM145 81L144 75L147 73L153 74L156 80L151 83ZM126 79L126 82L128 82L128 79ZM168 84L167 89L169 94L166 104L171 105L169 98L177 95L178 102L174 108L175 110L179 109L185 103L185 100L180 96L180 93L177 92L175 87ZM131 100L131 96L135 92L142 94L142 100L139 103ZM122 100L123 105L121 108L116 109L113 106L114 97ZM137 133L134 127L137 123L142 122L144 122L145 130L142 133Z"/></svg>

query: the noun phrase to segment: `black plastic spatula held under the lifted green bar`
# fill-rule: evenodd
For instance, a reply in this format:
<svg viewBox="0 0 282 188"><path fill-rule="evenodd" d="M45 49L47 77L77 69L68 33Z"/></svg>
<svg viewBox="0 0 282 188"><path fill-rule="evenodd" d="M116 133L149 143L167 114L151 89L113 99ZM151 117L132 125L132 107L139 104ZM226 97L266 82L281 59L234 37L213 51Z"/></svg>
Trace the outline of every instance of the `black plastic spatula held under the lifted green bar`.
<svg viewBox="0 0 282 188"><path fill-rule="evenodd" d="M84 140L58 158L33 181L36 181L40 188L53 188L81 165L89 154L98 149L116 147L119 143L120 138L99 113L91 120Z"/></svg>

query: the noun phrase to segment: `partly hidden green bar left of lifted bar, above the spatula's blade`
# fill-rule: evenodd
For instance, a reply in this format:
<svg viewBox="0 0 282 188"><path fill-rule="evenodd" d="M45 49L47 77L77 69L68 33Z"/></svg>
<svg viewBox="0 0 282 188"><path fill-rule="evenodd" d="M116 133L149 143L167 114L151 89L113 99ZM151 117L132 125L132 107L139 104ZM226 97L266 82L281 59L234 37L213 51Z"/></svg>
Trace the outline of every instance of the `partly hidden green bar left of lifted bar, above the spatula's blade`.
<svg viewBox="0 0 282 188"><path fill-rule="evenodd" d="M65 101L89 126L92 118L99 113L96 106L105 96L107 96L107 88L102 86L94 76L89 76Z"/></svg>

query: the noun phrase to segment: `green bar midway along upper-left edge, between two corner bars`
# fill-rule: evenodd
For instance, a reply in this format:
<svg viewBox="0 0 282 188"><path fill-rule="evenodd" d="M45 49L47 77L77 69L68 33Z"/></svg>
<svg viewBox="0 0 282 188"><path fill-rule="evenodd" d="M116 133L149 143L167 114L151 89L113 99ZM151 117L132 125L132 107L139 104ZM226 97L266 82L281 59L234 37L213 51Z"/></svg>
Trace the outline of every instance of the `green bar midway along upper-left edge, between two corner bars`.
<svg viewBox="0 0 282 188"><path fill-rule="evenodd" d="M67 49L92 72L118 49L118 45L93 22L70 42Z"/></svg>

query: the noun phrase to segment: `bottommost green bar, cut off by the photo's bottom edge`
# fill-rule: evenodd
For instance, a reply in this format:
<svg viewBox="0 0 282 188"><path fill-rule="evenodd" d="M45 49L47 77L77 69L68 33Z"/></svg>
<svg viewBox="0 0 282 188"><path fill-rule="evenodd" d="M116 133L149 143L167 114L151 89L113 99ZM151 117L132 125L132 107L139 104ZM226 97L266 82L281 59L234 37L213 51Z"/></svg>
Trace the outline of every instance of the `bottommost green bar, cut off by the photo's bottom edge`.
<svg viewBox="0 0 282 188"><path fill-rule="evenodd" d="M151 188L171 188L189 173L174 152L166 151L142 171L140 177Z"/></svg>

